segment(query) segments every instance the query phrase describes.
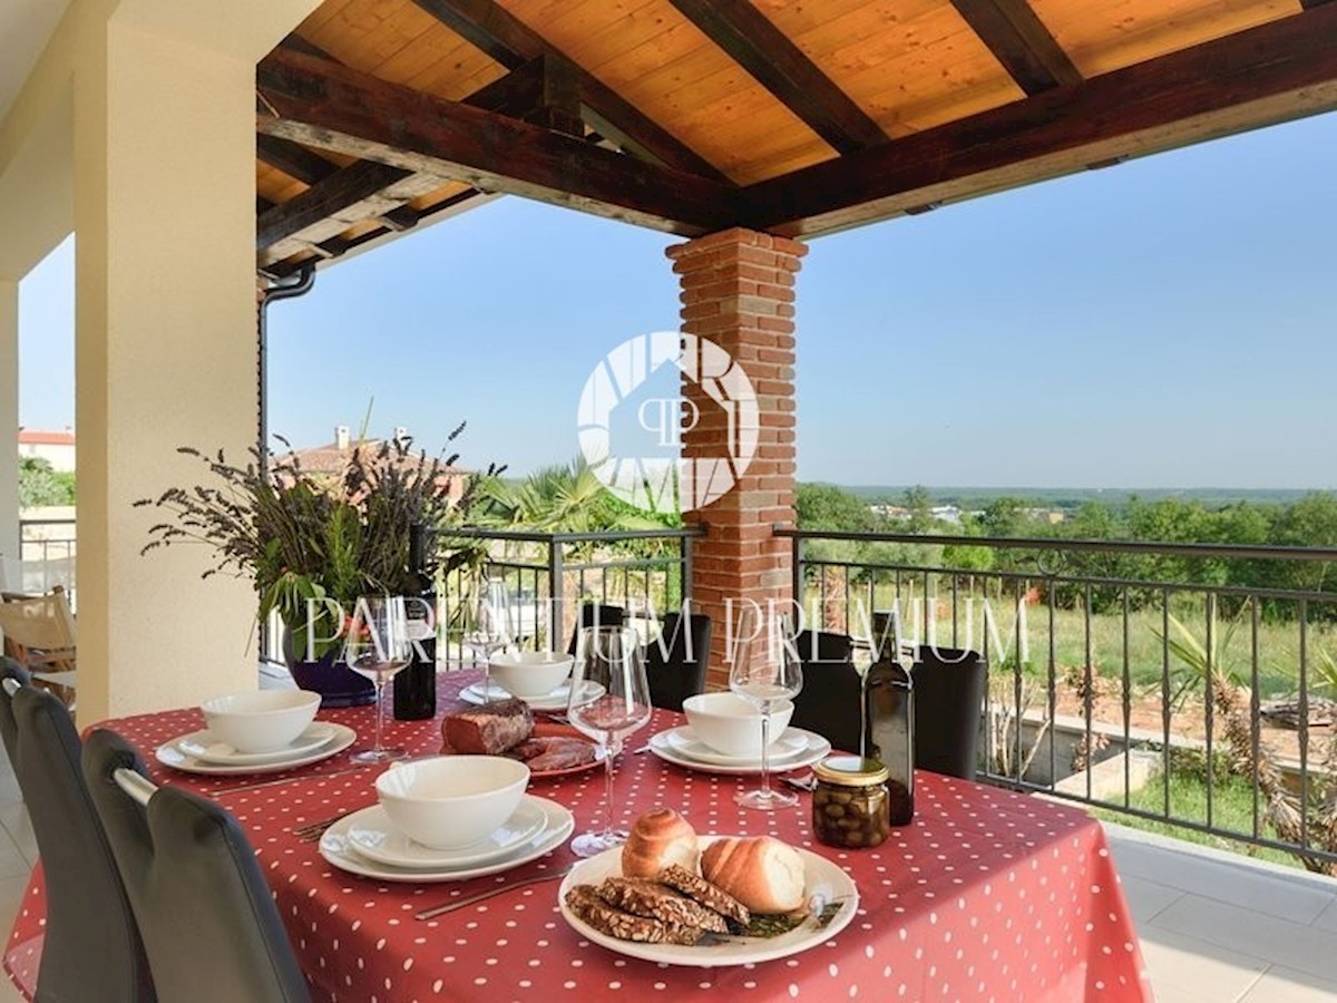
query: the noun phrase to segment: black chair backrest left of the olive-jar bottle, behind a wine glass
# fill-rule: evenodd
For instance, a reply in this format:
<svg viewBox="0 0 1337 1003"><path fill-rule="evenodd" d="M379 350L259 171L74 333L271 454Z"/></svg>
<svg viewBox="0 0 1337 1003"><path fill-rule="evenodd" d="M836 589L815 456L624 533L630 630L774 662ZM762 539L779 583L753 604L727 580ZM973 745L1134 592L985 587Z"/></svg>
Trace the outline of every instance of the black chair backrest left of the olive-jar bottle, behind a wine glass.
<svg viewBox="0 0 1337 1003"><path fill-rule="evenodd" d="M804 689L794 697L793 728L824 736L837 749L862 749L864 683L854 669L854 642L848 634L800 631L794 638L804 667Z"/></svg>

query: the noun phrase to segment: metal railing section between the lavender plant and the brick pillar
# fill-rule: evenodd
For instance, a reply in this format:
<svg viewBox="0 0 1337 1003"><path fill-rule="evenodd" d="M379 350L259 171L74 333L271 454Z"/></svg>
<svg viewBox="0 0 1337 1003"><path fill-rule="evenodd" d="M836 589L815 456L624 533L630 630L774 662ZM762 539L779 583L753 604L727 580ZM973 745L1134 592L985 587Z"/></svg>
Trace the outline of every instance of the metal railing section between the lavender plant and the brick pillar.
<svg viewBox="0 0 1337 1003"><path fill-rule="evenodd" d="M632 619L677 611L689 592L691 544L699 535L695 528L452 530L445 547L481 547L484 556L444 579L447 630L463 615L484 566L489 578L507 584L512 627L527 649L566 650L584 603L620 606Z"/></svg>

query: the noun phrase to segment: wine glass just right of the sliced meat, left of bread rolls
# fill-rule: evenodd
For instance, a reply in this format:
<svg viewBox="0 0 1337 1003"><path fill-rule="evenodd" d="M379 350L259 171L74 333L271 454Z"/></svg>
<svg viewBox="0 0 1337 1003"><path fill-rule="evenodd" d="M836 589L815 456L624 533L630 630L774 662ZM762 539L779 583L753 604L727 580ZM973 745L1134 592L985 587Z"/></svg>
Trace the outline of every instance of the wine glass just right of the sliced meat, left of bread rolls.
<svg viewBox="0 0 1337 1003"><path fill-rule="evenodd" d="M612 824L612 761L623 740L650 721L650 683L640 638L630 627L587 627L571 670L567 719L604 749L604 826L571 841L578 857L592 857L620 847L627 833Z"/></svg>

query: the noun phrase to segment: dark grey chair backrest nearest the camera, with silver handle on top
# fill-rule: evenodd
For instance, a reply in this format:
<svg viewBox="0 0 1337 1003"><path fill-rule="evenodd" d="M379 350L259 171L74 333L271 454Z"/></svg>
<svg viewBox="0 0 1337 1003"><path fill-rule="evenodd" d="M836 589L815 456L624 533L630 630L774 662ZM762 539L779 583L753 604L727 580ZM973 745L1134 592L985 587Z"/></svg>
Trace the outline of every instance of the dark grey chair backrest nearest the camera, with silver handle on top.
<svg viewBox="0 0 1337 1003"><path fill-rule="evenodd" d="M207 798L154 788L115 732L88 736L83 768L159 995L308 1003L306 980L237 820Z"/></svg>

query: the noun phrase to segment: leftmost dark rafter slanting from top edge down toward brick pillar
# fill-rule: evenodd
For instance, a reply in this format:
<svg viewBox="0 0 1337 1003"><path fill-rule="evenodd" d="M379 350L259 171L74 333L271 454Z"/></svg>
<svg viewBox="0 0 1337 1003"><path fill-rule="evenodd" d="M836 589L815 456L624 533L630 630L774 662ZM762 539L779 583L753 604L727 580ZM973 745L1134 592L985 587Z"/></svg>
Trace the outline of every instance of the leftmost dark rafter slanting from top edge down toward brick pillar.
<svg viewBox="0 0 1337 1003"><path fill-rule="evenodd" d="M554 62L567 64L575 80L582 119L599 135L611 139L627 152L710 181L726 181L714 164L642 114L612 88L567 59L495 0L413 0L413 3L509 70L516 70L537 56L548 56Z"/></svg>

